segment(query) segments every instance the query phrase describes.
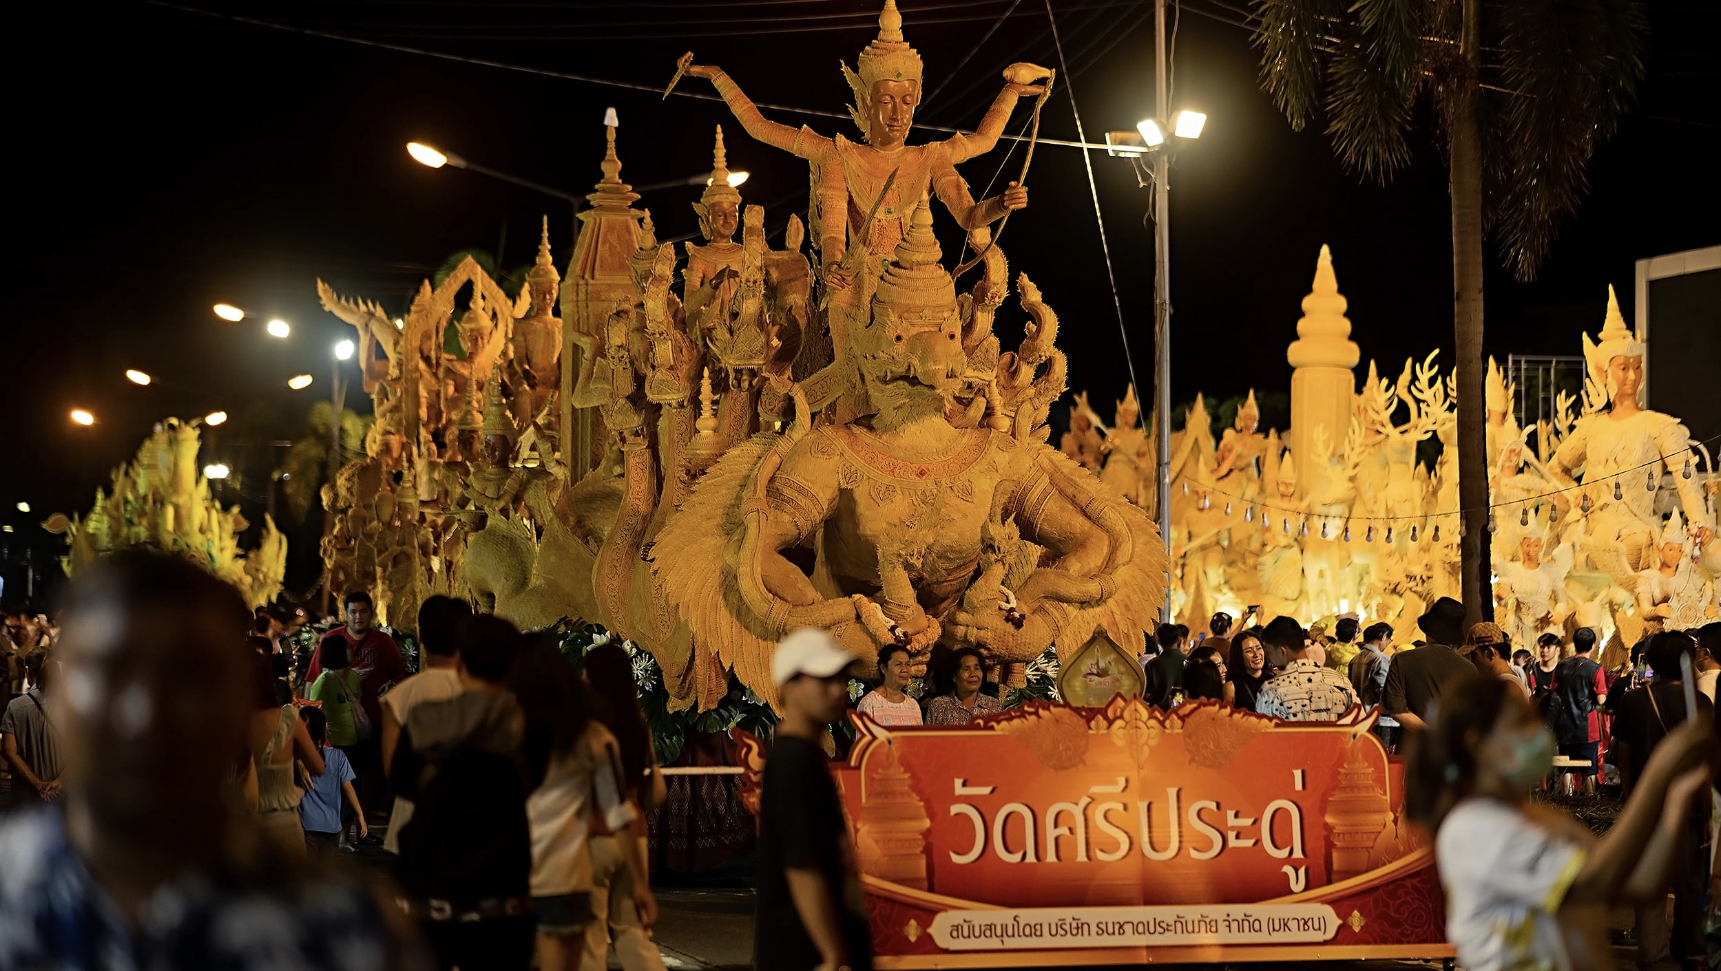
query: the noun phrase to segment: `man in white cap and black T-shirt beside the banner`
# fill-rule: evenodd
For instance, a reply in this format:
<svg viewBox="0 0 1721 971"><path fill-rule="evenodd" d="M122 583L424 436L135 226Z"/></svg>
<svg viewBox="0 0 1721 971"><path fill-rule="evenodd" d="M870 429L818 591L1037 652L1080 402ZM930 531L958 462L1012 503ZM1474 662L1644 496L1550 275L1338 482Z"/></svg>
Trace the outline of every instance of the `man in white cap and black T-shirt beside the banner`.
<svg viewBox="0 0 1721 971"><path fill-rule="evenodd" d="M783 720L759 796L754 968L864 971L873 966L854 842L824 754L826 725L848 706L855 656L824 631L776 644L771 679Z"/></svg>

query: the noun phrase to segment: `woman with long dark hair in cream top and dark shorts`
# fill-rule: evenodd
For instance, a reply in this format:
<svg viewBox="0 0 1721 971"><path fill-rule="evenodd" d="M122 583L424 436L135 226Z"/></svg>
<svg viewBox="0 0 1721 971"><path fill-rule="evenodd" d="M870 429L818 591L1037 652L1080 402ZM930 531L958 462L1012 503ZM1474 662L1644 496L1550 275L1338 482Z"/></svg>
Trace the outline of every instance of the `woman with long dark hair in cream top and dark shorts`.
<svg viewBox="0 0 1721 971"><path fill-rule="evenodd" d="M532 825L532 909L542 971L580 968L592 914L594 827L626 832L633 808L626 799L616 737L592 718L590 694L580 674L544 634L528 638L515 660L508 687L527 715L525 761L534 785L527 796ZM599 830L599 832L604 832ZM657 918L657 901L645 878L637 844L626 844L633 904L640 925Z"/></svg>

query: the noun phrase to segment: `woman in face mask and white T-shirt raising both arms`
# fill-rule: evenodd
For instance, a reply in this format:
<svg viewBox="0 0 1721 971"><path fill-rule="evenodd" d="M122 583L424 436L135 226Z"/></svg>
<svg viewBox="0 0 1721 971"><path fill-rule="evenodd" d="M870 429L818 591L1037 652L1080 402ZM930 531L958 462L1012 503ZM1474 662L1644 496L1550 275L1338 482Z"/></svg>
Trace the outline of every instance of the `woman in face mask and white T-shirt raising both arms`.
<svg viewBox="0 0 1721 971"><path fill-rule="evenodd" d="M1714 756L1707 717L1649 758L1606 835L1532 803L1554 737L1523 693L1496 677L1449 682L1411 742L1404 808L1435 830L1446 937L1466 971L1611 968L1607 907L1668 892L1681 834Z"/></svg>

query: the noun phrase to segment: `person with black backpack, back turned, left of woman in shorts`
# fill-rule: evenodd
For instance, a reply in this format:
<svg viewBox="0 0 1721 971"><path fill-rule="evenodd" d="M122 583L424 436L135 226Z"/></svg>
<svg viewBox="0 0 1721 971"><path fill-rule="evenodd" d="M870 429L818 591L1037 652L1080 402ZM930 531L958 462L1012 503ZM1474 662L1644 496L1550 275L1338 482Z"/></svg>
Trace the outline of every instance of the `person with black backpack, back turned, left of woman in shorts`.
<svg viewBox="0 0 1721 971"><path fill-rule="evenodd" d="M391 779L411 799L396 878L441 968L525 971L532 964L532 830L521 742L525 713L508 689L521 648L487 614L454 632L461 693L406 713Z"/></svg>

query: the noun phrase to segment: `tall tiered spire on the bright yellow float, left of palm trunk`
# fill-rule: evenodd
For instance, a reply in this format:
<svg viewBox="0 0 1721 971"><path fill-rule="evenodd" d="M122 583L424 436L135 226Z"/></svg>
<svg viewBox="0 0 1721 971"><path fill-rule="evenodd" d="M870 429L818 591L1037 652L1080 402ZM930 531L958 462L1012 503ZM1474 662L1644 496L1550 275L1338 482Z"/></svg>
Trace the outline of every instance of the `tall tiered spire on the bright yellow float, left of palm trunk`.
<svg viewBox="0 0 1721 971"><path fill-rule="evenodd" d="M1298 339L1286 351L1291 373L1291 430L1286 440L1296 455L1303 481L1317 481L1313 467L1320 457L1311 443L1315 430L1327 428L1327 442L1341 449L1351 428L1351 399L1356 378L1351 368L1361 357L1351 340L1351 320L1344 316L1348 301L1339 294L1339 277L1332 272L1332 251L1320 247L1315 285L1303 297L1303 320L1296 321ZM1334 455L1337 457L1337 455Z"/></svg>

